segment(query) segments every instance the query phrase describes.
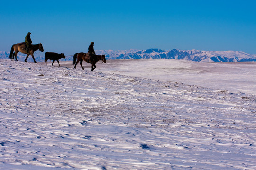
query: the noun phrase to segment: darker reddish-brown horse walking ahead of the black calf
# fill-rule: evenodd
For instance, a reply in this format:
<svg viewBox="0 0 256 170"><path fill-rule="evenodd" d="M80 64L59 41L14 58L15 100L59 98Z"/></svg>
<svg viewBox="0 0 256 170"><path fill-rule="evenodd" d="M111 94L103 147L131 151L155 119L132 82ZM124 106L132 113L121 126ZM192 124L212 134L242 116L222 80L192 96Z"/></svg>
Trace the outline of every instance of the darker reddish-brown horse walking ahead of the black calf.
<svg viewBox="0 0 256 170"><path fill-rule="evenodd" d="M76 61L76 59L77 59L77 61ZM76 65L79 63L79 61L80 61L80 65L82 67L83 60L87 63L91 63L91 71L93 71L96 68L95 64L98 61L102 60L104 63L106 63L105 55L94 55L94 61L91 62L89 53L80 52L80 53L75 53L75 55L73 57L73 64L75 64L74 68L76 68ZM84 69L84 68L82 67L82 69Z"/></svg>

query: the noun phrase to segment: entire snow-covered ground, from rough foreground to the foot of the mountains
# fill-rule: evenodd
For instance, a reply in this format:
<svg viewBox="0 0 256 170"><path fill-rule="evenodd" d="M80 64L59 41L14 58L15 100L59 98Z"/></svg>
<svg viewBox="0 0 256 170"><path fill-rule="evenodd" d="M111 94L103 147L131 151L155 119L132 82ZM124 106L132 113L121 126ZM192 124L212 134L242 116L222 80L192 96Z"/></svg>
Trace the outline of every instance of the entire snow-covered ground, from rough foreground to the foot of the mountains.
<svg viewBox="0 0 256 170"><path fill-rule="evenodd" d="M0 60L1 170L255 170L256 63Z"/></svg>

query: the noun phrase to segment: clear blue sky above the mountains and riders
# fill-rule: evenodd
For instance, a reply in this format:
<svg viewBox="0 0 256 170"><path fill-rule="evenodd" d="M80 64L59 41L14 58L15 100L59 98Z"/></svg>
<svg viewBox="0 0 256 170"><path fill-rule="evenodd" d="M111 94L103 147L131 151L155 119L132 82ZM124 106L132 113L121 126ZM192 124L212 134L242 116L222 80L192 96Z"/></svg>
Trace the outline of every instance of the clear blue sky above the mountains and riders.
<svg viewBox="0 0 256 170"><path fill-rule="evenodd" d="M256 0L4 0L0 51L31 32L45 52L160 48L256 54Z"/></svg>

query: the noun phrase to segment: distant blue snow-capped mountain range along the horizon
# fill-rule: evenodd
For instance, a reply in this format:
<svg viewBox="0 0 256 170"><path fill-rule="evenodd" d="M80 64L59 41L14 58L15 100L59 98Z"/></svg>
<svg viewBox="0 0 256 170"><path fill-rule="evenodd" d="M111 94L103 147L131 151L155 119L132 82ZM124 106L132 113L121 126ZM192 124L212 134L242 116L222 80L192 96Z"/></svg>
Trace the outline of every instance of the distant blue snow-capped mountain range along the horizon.
<svg viewBox="0 0 256 170"><path fill-rule="evenodd" d="M256 61L256 54L241 51L200 51L200 50L95 50L97 54L105 54L106 59L181 59L196 62L250 62ZM42 54L41 54L42 55ZM67 54L66 54L67 55ZM7 59L9 52L0 51L0 59ZM25 54L18 54L18 58L25 59ZM37 61L44 61L44 56L36 56ZM28 59L32 59L29 57ZM66 61L73 57L67 57ZM62 59L63 60L63 59ZM29 60L28 60L29 61ZM31 60L32 61L32 60Z"/></svg>

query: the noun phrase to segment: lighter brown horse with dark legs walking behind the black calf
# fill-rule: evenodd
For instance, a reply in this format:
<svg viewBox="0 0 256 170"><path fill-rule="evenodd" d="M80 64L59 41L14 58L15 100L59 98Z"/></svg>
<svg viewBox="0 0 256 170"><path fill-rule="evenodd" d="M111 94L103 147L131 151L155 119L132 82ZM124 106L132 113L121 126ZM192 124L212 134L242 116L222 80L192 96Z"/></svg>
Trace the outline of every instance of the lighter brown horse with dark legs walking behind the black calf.
<svg viewBox="0 0 256 170"><path fill-rule="evenodd" d="M27 62L28 56L31 55L32 58L34 59L34 62L37 63L35 58L34 58L34 52L37 51L38 49L40 51L44 52L44 48L43 48L43 45L41 43L32 45L32 47L29 49L28 52L26 52L26 44L25 44L25 42L14 44L11 47L9 58L10 59L14 59L14 56L15 56L15 60L18 61L17 60L17 54L18 54L18 52L22 52L23 54L27 54L25 62ZM15 51L15 53L13 53L13 51Z"/></svg>

